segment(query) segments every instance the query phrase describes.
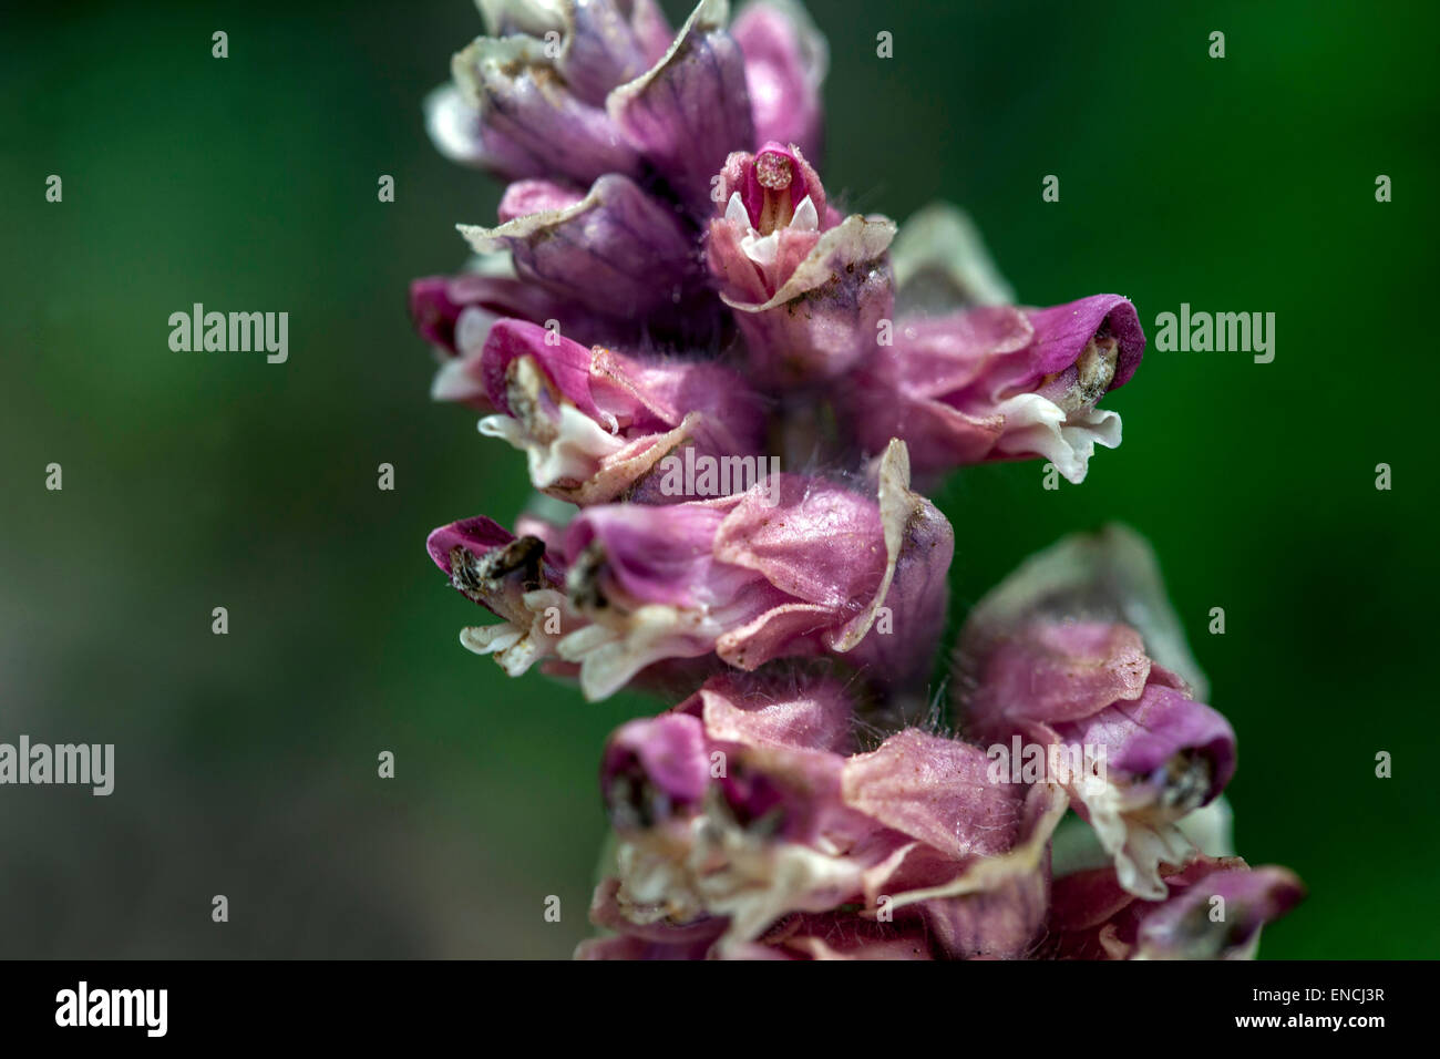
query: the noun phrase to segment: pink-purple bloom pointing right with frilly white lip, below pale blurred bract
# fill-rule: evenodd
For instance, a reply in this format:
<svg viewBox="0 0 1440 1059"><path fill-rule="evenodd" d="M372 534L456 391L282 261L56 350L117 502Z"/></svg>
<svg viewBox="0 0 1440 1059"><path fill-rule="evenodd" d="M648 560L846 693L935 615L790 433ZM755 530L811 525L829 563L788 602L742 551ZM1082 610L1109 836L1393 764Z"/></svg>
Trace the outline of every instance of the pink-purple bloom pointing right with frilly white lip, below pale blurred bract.
<svg viewBox="0 0 1440 1059"><path fill-rule="evenodd" d="M922 475L1044 458L1079 483L1096 445L1120 444L1120 416L1097 403L1143 350L1135 308L1117 294L904 318L854 375L848 411L865 448L904 438Z"/></svg>

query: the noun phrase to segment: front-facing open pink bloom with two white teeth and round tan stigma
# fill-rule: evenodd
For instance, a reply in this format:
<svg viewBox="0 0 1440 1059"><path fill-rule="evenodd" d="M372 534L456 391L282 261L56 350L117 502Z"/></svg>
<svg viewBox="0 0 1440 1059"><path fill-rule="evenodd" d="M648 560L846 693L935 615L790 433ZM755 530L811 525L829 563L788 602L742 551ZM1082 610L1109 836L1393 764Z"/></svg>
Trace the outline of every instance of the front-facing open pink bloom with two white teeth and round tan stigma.
<svg viewBox="0 0 1440 1059"><path fill-rule="evenodd" d="M894 223L844 220L795 144L732 154L720 171L707 255L750 366L773 386L834 379L860 363L890 316Z"/></svg>

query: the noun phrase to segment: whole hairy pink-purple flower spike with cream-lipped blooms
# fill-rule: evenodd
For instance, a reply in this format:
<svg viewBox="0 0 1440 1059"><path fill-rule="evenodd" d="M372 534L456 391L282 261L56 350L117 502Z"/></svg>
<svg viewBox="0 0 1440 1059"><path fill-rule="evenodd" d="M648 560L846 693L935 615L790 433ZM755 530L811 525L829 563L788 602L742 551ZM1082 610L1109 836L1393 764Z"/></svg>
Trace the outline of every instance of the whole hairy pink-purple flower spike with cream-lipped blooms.
<svg viewBox="0 0 1440 1059"><path fill-rule="evenodd" d="M1234 732L1139 537L1030 559L930 694L955 530L917 488L1081 481L1120 444L1130 303L1021 305L959 210L837 207L793 0L678 30L654 0L480 6L426 120L508 184L410 308L433 396L546 500L428 549L510 676L680 703L605 748L606 935L577 955L1251 954L1302 890L1228 849Z"/></svg>

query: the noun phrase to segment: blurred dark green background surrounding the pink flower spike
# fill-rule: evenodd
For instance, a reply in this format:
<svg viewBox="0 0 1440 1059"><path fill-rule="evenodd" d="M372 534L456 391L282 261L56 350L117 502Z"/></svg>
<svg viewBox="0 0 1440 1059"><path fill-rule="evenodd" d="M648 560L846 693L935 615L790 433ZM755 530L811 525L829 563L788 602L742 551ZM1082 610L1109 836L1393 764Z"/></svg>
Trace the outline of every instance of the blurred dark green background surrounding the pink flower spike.
<svg viewBox="0 0 1440 1059"><path fill-rule="evenodd" d="M1107 402L1125 445L1084 486L1044 491L1038 464L1011 464L939 497L955 615L1066 532L1120 519L1155 543L1240 735L1240 852L1310 889L1266 957L1430 957L1440 939L1420 402L1436 10L812 6L831 46L822 174L844 205L959 202L1022 300L1119 291L1152 337L1182 301L1277 314L1270 365L1152 347ZM71 3L4 20L0 741L114 742L117 790L0 788L0 955L569 955L590 932L602 741L654 705L508 682L458 645L477 611L423 550L431 527L508 522L527 497L517 454L429 402L405 310L412 277L462 262L452 225L498 200L420 118L478 13ZM1058 203L1041 202L1051 173ZM288 311L289 362L171 352L167 318L194 301Z"/></svg>

